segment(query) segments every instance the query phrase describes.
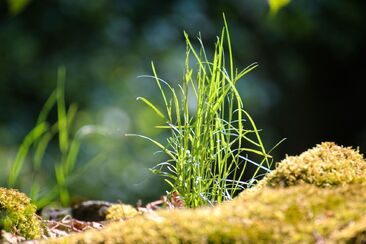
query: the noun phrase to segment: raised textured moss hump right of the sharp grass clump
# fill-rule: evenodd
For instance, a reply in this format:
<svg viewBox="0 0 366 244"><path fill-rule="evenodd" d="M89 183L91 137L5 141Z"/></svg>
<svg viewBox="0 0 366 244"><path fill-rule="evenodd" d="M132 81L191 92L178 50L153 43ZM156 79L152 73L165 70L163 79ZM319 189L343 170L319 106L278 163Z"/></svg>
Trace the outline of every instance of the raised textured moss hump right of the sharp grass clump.
<svg viewBox="0 0 366 244"><path fill-rule="evenodd" d="M256 188L302 183L330 187L366 182L366 161L358 150L323 142L299 156L286 157Z"/></svg>

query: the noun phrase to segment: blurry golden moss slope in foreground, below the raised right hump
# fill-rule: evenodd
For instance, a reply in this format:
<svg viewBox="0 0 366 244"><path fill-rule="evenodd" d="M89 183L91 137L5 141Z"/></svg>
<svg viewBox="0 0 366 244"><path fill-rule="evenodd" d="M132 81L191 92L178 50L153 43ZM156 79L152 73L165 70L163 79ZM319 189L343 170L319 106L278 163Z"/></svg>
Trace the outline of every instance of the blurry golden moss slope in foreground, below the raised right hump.
<svg viewBox="0 0 366 244"><path fill-rule="evenodd" d="M363 240L366 185L264 187L213 208L160 210L51 243L334 243ZM364 223L360 228L353 223ZM338 233L342 233L340 235Z"/></svg>

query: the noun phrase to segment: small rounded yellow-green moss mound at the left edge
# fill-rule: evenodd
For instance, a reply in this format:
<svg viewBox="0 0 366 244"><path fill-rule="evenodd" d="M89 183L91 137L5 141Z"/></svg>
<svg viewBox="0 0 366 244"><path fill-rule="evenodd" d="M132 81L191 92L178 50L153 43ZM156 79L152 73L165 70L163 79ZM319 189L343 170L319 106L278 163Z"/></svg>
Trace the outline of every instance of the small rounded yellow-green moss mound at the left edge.
<svg viewBox="0 0 366 244"><path fill-rule="evenodd" d="M41 237L36 207L24 193L0 187L0 229L26 239Z"/></svg>

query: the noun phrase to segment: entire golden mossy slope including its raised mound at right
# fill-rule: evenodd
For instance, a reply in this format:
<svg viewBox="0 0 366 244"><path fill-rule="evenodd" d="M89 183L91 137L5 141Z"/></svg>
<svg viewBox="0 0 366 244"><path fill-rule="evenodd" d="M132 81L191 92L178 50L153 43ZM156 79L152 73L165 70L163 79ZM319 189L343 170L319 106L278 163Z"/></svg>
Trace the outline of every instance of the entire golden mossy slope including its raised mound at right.
<svg viewBox="0 0 366 244"><path fill-rule="evenodd" d="M160 210L51 243L365 243L366 162L323 143L213 208Z"/></svg>

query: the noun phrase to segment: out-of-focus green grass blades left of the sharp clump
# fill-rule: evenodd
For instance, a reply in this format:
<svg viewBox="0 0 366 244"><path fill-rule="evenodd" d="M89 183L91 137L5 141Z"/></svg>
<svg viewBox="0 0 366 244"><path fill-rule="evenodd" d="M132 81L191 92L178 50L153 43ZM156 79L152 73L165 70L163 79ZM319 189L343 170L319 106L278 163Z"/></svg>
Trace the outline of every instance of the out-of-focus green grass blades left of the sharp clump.
<svg viewBox="0 0 366 244"><path fill-rule="evenodd" d="M36 126L28 133L20 145L8 175L8 186L15 187L19 183L20 173L25 166L27 156L33 155L30 159L32 161L33 179L29 195L38 208L42 208L55 200L58 200L64 206L68 206L70 204L69 184L91 165L105 159L105 155L101 152L85 163L83 167L75 168L80 150L80 140L88 134L99 133L101 130L99 127L87 125L78 129L74 136L72 135L71 129L77 114L77 106L71 104L66 110L65 75L65 68L60 67L57 73L57 88L43 106ZM57 108L57 121L50 124L47 118L55 105ZM54 164L55 184L44 194L41 190L41 179L38 177L41 177L42 174L42 161L46 150L52 139L57 135L60 157L59 161Z"/></svg>

